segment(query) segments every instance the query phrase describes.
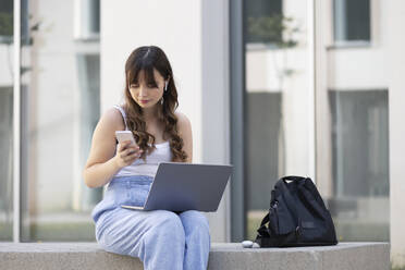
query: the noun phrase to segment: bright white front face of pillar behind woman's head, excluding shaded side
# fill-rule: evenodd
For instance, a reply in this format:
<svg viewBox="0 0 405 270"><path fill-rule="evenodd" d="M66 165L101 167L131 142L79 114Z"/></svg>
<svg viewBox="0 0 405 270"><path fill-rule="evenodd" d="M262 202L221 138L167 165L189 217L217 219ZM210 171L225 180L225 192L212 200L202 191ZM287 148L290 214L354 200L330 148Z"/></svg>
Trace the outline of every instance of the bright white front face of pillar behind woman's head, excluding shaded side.
<svg viewBox="0 0 405 270"><path fill-rule="evenodd" d="M199 1L101 1L101 111L123 102L124 64L130 53L139 46L159 46L172 64L179 110L193 124L195 162L201 160L196 143L201 133L200 16Z"/></svg>

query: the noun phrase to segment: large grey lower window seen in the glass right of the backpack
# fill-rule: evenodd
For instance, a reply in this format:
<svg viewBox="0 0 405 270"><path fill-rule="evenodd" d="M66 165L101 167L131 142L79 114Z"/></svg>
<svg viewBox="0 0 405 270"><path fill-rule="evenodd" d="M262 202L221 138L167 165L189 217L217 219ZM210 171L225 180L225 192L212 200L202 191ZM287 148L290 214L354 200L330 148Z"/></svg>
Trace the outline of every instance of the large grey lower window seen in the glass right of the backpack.
<svg viewBox="0 0 405 270"><path fill-rule="evenodd" d="M389 241L388 90L329 90L329 101L333 192L328 202L336 233L343 241Z"/></svg>

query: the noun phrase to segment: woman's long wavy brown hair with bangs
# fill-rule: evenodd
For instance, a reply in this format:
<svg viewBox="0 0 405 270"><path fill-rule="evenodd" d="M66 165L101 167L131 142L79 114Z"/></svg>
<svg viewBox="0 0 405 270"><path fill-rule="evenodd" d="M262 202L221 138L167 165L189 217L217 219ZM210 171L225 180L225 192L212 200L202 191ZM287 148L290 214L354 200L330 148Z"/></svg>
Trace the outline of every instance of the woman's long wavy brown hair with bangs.
<svg viewBox="0 0 405 270"><path fill-rule="evenodd" d="M179 135L177 118L174 114L179 107L177 89L173 79L172 68L164 52L156 46L144 46L135 49L125 63L125 105L127 127L134 134L135 140L140 149L144 161L146 155L152 152L155 147L155 136L146 132L146 122L142 108L135 102L130 93L130 85L138 83L138 75L144 71L145 82L157 85L154 76L154 69L165 79L169 79L168 90L163 91L163 105L158 106L158 122L163 125L163 139L169 140L172 152L172 161L184 162L187 159L183 150L183 139ZM150 145L148 145L148 143Z"/></svg>

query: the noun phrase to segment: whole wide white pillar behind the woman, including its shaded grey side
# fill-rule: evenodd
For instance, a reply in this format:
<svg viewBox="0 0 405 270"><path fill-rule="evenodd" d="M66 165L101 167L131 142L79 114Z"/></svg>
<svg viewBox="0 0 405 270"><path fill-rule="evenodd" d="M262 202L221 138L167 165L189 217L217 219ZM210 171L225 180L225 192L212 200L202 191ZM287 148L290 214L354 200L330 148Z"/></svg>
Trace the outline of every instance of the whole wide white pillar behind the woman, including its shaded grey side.
<svg viewBox="0 0 405 270"><path fill-rule="evenodd" d="M122 102L124 63L144 45L163 49L193 126L195 163L229 163L226 1L101 1L101 110ZM225 105L225 106L224 106ZM210 213L212 241L226 241L226 205Z"/></svg>

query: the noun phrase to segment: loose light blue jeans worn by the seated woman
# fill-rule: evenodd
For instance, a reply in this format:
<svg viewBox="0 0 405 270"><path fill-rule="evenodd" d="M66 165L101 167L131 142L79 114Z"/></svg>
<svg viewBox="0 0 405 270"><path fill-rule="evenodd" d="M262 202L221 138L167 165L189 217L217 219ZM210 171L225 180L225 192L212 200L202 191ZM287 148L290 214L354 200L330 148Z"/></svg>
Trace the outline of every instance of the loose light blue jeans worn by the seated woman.
<svg viewBox="0 0 405 270"><path fill-rule="evenodd" d="M209 225L198 211L138 211L121 205L143 206L151 176L113 177L105 198L94 208L96 240L107 251L138 257L146 270L207 269Z"/></svg>

